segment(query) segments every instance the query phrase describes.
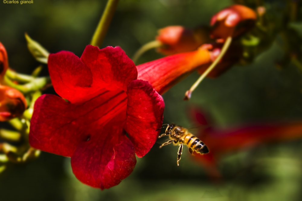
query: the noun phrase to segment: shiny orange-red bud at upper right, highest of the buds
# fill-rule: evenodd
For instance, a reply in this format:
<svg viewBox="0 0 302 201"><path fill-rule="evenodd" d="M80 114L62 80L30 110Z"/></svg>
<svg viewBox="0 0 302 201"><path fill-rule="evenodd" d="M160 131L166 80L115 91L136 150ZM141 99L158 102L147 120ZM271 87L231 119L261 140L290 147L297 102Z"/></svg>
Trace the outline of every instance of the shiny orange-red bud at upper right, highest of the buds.
<svg viewBox="0 0 302 201"><path fill-rule="evenodd" d="M224 42L228 36L237 37L251 29L257 14L243 5L233 5L215 14L211 26L215 25L211 37L217 42Z"/></svg>

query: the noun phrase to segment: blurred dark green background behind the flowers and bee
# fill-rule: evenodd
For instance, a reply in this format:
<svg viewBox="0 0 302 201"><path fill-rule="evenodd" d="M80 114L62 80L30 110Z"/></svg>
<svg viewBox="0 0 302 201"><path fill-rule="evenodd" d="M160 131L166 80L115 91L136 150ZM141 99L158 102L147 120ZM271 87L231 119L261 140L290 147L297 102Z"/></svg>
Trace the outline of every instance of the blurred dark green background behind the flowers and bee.
<svg viewBox="0 0 302 201"><path fill-rule="evenodd" d="M7 49L10 67L30 74L39 65L27 50L25 32L49 52L68 50L81 56L106 2L0 2L0 41ZM132 57L143 44L154 40L159 28L208 25L212 15L231 4L229 0L120 0L102 46L120 46ZM195 127L188 111L196 107L220 129L302 120L302 73L294 65L278 70L275 61L282 54L274 42L252 64L235 66L217 79L205 79L185 102L185 91L198 79L197 73L191 74L163 95L164 123ZM150 50L138 62L161 57ZM45 65L42 75L47 74ZM55 92L49 89L46 93ZM203 166L186 149L178 167L177 147L159 149L161 142L137 159L128 178L103 191L80 183L72 174L69 158L43 152L37 160L10 164L0 174L0 200L302 200L301 140L263 144L224 155L218 165L223 175L219 184L208 179Z"/></svg>

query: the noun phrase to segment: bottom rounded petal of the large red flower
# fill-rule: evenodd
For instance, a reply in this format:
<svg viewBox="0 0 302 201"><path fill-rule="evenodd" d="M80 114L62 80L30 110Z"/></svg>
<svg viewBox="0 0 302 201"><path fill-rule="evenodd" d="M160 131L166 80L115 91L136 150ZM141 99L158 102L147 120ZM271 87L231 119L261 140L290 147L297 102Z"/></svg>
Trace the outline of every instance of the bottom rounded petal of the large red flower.
<svg viewBox="0 0 302 201"><path fill-rule="evenodd" d="M110 188L133 171L136 157L133 144L122 129L124 117L117 115L96 135L81 142L72 155L73 173L83 183Z"/></svg>

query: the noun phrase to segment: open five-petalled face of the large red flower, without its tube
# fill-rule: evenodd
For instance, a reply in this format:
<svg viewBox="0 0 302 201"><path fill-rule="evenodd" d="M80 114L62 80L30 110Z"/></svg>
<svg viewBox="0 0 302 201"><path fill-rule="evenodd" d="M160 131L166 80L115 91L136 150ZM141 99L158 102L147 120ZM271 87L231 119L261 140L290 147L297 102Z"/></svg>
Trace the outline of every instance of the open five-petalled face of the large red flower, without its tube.
<svg viewBox="0 0 302 201"><path fill-rule="evenodd" d="M73 173L101 189L120 183L155 143L164 102L119 47L86 46L81 58L50 54L55 95L37 99L29 141L43 151L71 157ZM126 136L128 133L129 138Z"/></svg>

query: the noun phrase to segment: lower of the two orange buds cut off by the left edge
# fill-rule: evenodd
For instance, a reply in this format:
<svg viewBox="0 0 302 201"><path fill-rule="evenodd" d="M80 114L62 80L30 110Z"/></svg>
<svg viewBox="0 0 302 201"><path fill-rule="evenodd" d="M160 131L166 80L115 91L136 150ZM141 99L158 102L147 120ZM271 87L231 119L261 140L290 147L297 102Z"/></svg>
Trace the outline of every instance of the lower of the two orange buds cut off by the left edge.
<svg viewBox="0 0 302 201"><path fill-rule="evenodd" d="M21 116L26 108L27 103L21 92L0 85L0 121Z"/></svg>

